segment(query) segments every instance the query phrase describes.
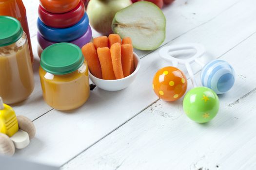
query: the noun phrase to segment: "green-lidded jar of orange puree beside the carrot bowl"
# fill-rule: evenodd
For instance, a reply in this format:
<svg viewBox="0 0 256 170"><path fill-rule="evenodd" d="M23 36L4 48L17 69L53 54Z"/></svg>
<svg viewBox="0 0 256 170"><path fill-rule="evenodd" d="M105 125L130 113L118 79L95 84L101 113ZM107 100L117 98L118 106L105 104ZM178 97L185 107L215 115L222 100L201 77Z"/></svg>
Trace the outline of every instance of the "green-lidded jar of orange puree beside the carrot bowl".
<svg viewBox="0 0 256 170"><path fill-rule="evenodd" d="M41 54L39 76L43 99L56 110L76 109L89 97L87 63L81 49L74 44L47 47Z"/></svg>

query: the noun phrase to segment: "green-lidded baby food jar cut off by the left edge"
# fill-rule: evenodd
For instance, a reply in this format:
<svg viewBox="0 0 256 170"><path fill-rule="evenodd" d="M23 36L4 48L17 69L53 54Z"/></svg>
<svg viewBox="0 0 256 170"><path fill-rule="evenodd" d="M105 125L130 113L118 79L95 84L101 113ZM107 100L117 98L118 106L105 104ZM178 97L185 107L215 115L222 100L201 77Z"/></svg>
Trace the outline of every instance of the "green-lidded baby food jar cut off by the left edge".
<svg viewBox="0 0 256 170"><path fill-rule="evenodd" d="M16 18L0 16L0 96L13 104L28 98L33 89L27 36Z"/></svg>

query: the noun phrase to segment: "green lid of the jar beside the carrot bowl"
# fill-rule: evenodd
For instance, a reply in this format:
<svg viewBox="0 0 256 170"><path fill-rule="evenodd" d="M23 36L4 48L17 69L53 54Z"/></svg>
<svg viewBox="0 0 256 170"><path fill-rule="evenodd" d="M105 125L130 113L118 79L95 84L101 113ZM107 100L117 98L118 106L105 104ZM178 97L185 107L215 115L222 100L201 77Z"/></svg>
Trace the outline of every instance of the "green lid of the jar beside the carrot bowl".
<svg viewBox="0 0 256 170"><path fill-rule="evenodd" d="M57 43L42 52L40 65L46 72L63 75L76 71L83 62L82 51L77 45Z"/></svg>

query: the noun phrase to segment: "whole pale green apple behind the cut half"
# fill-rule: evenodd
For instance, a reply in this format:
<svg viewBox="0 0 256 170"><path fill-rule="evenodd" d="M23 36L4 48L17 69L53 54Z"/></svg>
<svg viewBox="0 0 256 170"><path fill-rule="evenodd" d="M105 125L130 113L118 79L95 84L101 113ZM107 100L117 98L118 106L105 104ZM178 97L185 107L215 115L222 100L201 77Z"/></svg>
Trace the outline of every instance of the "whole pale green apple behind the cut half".
<svg viewBox="0 0 256 170"><path fill-rule="evenodd" d="M111 25L115 14L131 4L131 0L90 0L87 14L91 26L100 34L113 33Z"/></svg>

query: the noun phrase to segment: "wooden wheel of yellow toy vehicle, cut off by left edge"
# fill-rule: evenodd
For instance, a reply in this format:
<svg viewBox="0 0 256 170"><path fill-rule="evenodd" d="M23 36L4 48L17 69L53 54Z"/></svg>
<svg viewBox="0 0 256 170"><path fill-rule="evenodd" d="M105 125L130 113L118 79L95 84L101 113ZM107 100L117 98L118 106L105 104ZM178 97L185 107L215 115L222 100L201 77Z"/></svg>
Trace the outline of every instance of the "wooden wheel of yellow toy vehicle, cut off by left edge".
<svg viewBox="0 0 256 170"><path fill-rule="evenodd" d="M9 136L0 133L0 154L12 156L15 153L13 141Z"/></svg>

